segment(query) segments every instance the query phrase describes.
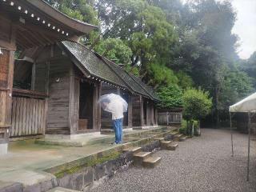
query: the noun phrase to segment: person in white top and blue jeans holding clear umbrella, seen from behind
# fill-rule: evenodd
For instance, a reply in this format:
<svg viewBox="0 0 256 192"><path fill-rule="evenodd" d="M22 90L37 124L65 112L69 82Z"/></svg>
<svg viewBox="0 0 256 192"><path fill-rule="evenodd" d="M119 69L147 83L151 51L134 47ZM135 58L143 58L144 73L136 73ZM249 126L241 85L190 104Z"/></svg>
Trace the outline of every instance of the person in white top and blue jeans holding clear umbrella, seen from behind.
<svg viewBox="0 0 256 192"><path fill-rule="evenodd" d="M112 124L115 133L113 144L122 143L122 118L127 111L127 102L118 94L104 94L99 98L103 110L112 114Z"/></svg>

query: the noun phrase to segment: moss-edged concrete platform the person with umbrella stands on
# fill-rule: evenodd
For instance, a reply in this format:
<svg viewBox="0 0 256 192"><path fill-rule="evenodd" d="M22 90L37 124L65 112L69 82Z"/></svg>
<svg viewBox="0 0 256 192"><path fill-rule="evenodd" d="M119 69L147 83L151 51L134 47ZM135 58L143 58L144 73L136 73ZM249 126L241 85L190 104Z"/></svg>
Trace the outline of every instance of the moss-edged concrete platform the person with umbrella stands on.
<svg viewBox="0 0 256 192"><path fill-rule="evenodd" d="M164 137L176 129L158 127L154 130L129 131L124 134L125 143L116 146L110 145L114 135L99 133L89 134L85 137L86 141L82 138L70 139L70 143L84 142L80 147L40 145L33 139L10 142L8 154L0 156L0 191L1 187L4 189L15 185L31 186L30 191L39 191L42 187L50 190L58 186L56 177L66 170L74 171L77 167L94 166L93 163L117 158L125 148L154 142L154 138ZM100 161L97 161L98 158Z"/></svg>

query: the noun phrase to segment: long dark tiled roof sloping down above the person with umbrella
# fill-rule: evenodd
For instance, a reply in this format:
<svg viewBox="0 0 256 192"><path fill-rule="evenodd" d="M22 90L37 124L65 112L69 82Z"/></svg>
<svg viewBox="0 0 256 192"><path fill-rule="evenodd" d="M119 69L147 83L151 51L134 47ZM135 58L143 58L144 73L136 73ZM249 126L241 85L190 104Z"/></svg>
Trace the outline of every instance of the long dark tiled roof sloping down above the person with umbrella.
<svg viewBox="0 0 256 192"><path fill-rule="evenodd" d="M158 101L158 97L154 94L153 88L146 86L142 80L133 74L127 73L126 70L118 66L109 59L94 53L85 46L76 42L62 42L65 50L71 54L70 56L81 63L90 75L101 78L106 82L113 83L130 90L133 94L142 94L146 98Z"/></svg>

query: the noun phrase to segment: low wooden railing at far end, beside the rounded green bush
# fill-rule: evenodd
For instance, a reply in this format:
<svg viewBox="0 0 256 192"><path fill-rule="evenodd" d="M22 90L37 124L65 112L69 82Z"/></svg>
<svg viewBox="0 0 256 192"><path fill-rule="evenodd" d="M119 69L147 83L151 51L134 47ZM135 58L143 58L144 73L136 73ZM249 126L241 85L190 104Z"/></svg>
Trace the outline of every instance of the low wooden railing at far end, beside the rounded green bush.
<svg viewBox="0 0 256 192"><path fill-rule="evenodd" d="M174 111L158 111L158 125L172 125L182 123L182 112Z"/></svg>

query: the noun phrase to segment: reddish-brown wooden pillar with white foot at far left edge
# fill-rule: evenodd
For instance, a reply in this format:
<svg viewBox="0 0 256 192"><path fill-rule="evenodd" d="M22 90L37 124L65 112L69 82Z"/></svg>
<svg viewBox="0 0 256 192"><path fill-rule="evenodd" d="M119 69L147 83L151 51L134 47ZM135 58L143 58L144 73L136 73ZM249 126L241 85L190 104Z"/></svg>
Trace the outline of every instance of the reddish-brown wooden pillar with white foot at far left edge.
<svg viewBox="0 0 256 192"><path fill-rule="evenodd" d="M11 124L12 89L16 27L10 27L10 39L0 40L0 154L7 153Z"/></svg>

